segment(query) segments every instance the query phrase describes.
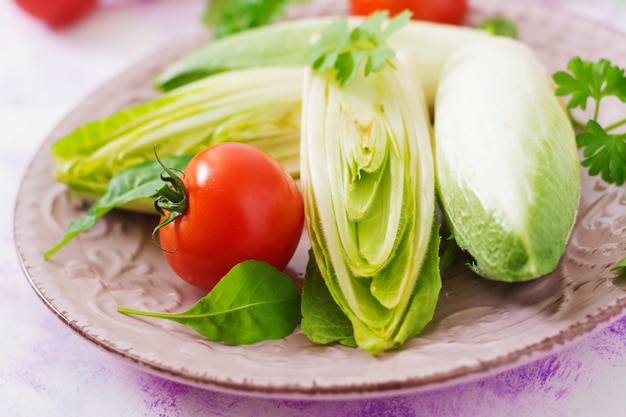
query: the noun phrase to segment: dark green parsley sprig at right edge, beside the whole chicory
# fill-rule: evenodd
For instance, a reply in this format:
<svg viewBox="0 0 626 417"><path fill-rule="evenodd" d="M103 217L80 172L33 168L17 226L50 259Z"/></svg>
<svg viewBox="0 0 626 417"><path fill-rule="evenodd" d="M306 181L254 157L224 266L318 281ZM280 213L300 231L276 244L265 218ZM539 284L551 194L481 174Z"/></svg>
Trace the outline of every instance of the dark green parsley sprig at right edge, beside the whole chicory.
<svg viewBox="0 0 626 417"><path fill-rule="evenodd" d="M558 96L569 95L567 108L579 133L576 142L583 149L581 164L589 168L590 175L600 174L609 184L622 185L626 181L626 133L615 130L626 125L626 118L602 126L599 122L600 103L607 97L626 103L626 76L624 69L612 65L607 59L598 62L573 58L567 65L568 71L553 75ZM595 107L587 122L576 118L576 108L586 111L589 100Z"/></svg>

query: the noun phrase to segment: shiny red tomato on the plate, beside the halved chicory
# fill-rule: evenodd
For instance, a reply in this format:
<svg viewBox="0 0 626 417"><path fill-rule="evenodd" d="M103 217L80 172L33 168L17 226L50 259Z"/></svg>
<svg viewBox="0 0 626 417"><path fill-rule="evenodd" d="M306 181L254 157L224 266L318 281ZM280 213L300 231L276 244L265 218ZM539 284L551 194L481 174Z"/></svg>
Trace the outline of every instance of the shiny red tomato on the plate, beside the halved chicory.
<svg viewBox="0 0 626 417"><path fill-rule="evenodd" d="M211 290L245 260L287 266L302 234L304 203L278 161L250 145L221 143L194 156L182 179L187 207L158 232L177 275Z"/></svg>

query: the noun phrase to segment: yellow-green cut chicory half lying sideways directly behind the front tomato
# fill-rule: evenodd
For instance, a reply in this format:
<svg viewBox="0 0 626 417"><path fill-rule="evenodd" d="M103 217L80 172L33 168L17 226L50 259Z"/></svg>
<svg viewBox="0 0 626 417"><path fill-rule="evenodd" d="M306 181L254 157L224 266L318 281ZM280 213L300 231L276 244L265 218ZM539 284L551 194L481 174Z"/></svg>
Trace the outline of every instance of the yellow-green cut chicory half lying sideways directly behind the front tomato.
<svg viewBox="0 0 626 417"><path fill-rule="evenodd" d="M302 70L219 74L80 126L52 145L55 176L79 196L101 197L110 179L159 155L194 155L235 141L256 146L299 177ZM153 213L152 205L145 211Z"/></svg>

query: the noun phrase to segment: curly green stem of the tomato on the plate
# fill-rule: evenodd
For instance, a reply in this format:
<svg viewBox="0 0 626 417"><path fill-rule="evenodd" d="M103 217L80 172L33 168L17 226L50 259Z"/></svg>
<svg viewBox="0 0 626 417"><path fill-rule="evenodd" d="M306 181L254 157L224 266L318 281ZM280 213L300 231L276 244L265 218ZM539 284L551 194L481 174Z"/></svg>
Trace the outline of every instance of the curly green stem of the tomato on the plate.
<svg viewBox="0 0 626 417"><path fill-rule="evenodd" d="M163 180L165 184L157 190L158 196L154 202L154 208L157 213L159 213L162 220L152 231L152 241L155 242L161 250L173 253L175 250L169 251L164 249L156 242L156 235L159 229L182 216L185 210L187 210L187 190L185 189L182 175L178 175L173 169L165 166L159 159L156 145L154 145L154 156L159 165L163 168L161 180Z"/></svg>

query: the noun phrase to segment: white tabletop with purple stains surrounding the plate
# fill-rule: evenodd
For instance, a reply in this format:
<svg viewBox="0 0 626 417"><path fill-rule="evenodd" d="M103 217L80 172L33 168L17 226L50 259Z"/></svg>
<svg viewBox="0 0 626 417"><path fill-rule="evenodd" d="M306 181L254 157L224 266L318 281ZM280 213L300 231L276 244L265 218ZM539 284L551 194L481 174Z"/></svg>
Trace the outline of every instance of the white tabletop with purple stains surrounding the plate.
<svg viewBox="0 0 626 417"><path fill-rule="evenodd" d="M516 3L518 11L572 16L572 31L577 30L576 22L587 31L597 27L623 42L611 45L611 50L626 48L626 0L470 0L479 8L507 2ZM0 415L625 415L626 318L617 317L565 346L489 374L419 392L369 392L341 401L264 398L176 382L121 360L59 320L25 278L16 255L14 207L19 179L48 134L85 97L149 54L200 31L205 0L102 3L96 13L75 25L51 31L13 2L0 2L0 175L6 196L0 209ZM532 33L525 35L539 42ZM603 56L603 47L608 48L598 43L597 56ZM621 59L623 65L625 58ZM623 187L619 192L624 195ZM620 204L623 211L624 202Z"/></svg>

